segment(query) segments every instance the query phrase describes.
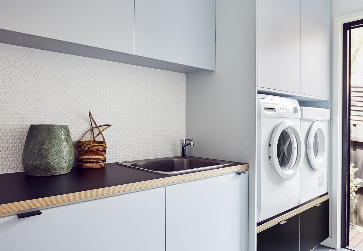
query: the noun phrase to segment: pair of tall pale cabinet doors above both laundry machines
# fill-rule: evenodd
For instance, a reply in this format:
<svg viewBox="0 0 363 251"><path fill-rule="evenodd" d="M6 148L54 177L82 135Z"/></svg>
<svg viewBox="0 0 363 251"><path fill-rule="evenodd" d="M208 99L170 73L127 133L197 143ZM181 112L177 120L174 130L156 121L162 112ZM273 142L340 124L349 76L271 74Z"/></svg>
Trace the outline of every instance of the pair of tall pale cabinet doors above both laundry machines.
<svg viewBox="0 0 363 251"><path fill-rule="evenodd" d="M257 1L257 86L330 97L330 0Z"/></svg>

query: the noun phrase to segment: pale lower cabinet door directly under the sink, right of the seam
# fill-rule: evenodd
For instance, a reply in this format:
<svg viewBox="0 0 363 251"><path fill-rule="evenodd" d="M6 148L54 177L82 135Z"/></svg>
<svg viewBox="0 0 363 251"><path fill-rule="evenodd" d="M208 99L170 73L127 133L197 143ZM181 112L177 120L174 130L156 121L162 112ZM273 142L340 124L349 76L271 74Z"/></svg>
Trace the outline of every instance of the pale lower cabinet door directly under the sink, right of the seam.
<svg viewBox="0 0 363 251"><path fill-rule="evenodd" d="M248 174L166 188L166 250L241 251L248 247Z"/></svg>

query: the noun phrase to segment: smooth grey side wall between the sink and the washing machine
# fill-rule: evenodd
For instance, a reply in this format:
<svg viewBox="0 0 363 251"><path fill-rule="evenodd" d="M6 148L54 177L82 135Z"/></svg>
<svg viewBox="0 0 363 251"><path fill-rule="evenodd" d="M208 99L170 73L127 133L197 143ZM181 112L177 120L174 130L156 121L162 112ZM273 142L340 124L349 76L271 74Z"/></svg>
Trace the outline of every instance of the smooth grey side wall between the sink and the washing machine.
<svg viewBox="0 0 363 251"><path fill-rule="evenodd" d="M249 163L249 232L256 231L256 1L216 1L216 71L186 75L188 155ZM249 236L255 250L256 235Z"/></svg>

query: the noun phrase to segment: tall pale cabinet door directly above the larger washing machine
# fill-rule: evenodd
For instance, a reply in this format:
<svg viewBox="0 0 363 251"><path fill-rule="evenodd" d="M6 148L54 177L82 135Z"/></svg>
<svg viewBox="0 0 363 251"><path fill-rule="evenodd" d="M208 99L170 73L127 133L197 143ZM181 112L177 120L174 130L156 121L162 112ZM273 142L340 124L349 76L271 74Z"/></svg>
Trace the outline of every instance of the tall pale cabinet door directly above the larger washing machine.
<svg viewBox="0 0 363 251"><path fill-rule="evenodd" d="M257 85L300 93L300 0L257 1Z"/></svg>

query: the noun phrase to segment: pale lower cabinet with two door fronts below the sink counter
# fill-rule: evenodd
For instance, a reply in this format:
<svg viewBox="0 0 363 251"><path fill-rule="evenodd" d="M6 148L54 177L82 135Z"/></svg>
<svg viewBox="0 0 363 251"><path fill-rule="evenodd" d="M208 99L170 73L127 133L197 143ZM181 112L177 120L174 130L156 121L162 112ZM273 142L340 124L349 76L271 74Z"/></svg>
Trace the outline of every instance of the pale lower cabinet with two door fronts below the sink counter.
<svg viewBox="0 0 363 251"><path fill-rule="evenodd" d="M248 173L0 218L6 251L244 251Z"/></svg>

